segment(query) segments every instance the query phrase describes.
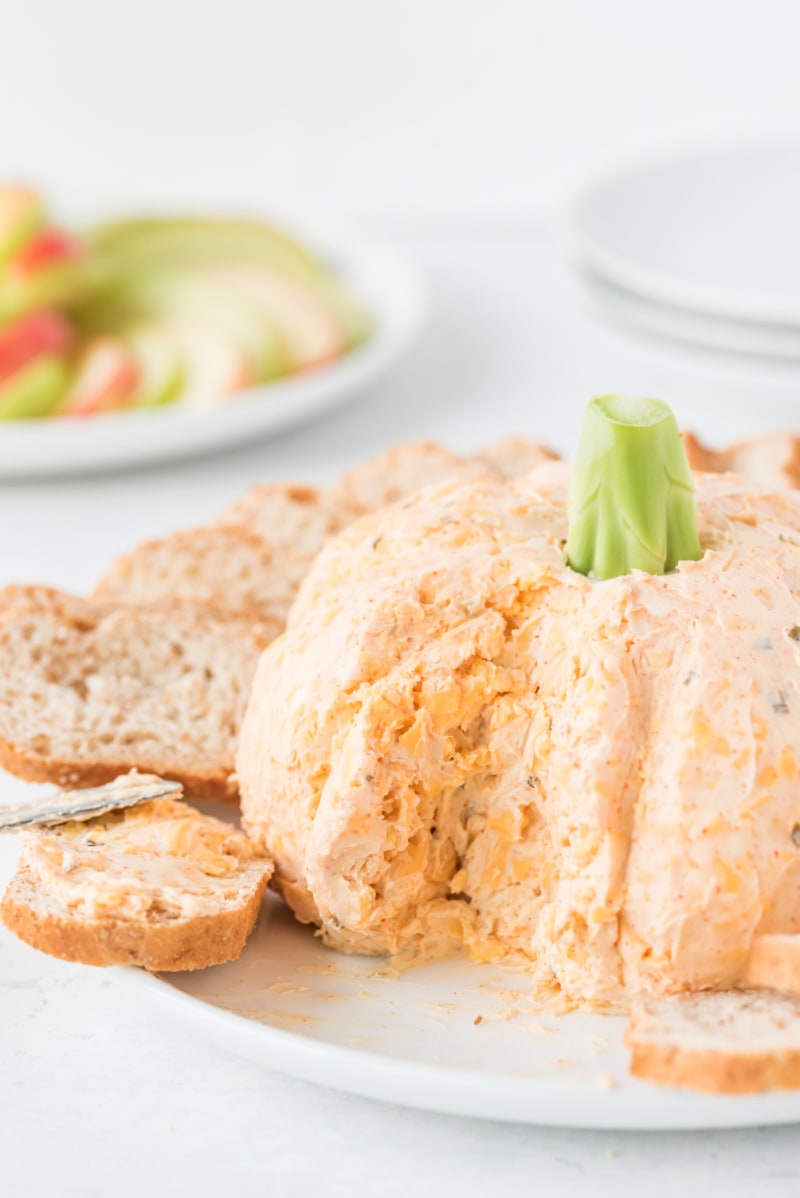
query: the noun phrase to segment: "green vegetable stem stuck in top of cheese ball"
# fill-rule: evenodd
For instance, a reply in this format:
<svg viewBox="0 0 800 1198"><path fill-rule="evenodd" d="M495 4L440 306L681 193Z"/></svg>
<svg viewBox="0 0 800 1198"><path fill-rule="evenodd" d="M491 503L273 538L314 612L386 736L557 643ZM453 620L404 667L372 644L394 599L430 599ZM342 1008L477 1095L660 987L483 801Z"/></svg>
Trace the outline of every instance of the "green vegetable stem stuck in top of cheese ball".
<svg viewBox="0 0 800 1198"><path fill-rule="evenodd" d="M695 484L671 409L629 395L593 399L570 486L568 564L616 579L701 557Z"/></svg>

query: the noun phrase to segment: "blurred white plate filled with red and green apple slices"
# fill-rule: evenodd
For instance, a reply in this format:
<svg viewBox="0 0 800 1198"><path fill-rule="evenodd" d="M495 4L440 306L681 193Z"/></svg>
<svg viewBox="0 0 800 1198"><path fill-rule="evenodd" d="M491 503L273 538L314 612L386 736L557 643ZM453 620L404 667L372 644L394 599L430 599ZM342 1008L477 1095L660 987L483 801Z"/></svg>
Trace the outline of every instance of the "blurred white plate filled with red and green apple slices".
<svg viewBox="0 0 800 1198"><path fill-rule="evenodd" d="M405 258L308 213L77 226L0 187L0 477L223 448L357 394L423 313Z"/></svg>

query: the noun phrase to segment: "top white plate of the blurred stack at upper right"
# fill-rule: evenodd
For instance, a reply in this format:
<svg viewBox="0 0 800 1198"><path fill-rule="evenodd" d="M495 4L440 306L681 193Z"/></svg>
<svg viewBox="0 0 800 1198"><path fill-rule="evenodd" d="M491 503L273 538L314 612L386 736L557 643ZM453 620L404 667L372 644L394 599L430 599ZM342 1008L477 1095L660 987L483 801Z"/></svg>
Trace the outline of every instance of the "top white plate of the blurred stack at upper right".
<svg viewBox="0 0 800 1198"><path fill-rule="evenodd" d="M608 280L717 316L800 325L800 144L696 152L583 190L572 247Z"/></svg>

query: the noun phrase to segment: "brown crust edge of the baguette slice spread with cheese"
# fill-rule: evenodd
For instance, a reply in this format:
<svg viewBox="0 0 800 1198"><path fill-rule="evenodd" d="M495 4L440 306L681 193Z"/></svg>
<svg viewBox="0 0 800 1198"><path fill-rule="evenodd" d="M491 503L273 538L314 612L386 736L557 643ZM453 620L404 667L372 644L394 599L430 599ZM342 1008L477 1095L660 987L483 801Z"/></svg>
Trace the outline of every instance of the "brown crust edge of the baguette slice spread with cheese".
<svg viewBox="0 0 800 1198"><path fill-rule="evenodd" d="M62 961L86 966L141 966L151 972L206 969L240 956L253 931L269 879L266 861L244 866L242 902L210 915L174 921L143 919L89 920L80 915L36 909L36 878L20 866L0 903L6 927Z"/></svg>

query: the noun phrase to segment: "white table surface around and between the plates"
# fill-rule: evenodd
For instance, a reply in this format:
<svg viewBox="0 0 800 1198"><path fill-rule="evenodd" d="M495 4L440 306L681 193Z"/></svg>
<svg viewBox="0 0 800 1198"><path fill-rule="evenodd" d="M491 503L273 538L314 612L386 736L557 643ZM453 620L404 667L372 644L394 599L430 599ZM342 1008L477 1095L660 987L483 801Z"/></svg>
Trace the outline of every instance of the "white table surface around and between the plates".
<svg viewBox="0 0 800 1198"><path fill-rule="evenodd" d="M266 479L326 480L402 438L469 449L523 431L569 448L606 391L669 400L717 441L800 426L800 373L631 340L576 304L537 236L407 236L431 315L380 391L317 426L216 459L0 485L0 583L80 591L135 540L200 522ZM794 415L796 413L796 415ZM0 798L18 783L0 779ZM16 845L0 842L5 884ZM17 1196L789 1196L796 1127L696 1135L552 1131L327 1091L206 1047L114 972L0 931L0 1193ZM523 1191L525 1187L525 1191Z"/></svg>

